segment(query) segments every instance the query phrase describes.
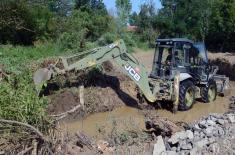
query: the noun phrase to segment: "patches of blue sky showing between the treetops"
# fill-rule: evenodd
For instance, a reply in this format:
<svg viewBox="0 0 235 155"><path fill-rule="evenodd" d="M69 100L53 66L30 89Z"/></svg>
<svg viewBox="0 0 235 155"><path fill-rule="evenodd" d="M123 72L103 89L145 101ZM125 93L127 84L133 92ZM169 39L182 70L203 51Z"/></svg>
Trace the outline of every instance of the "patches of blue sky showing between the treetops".
<svg viewBox="0 0 235 155"><path fill-rule="evenodd" d="M147 0L131 0L132 4L132 12L139 12L140 5L146 2ZM161 8L160 0L153 0L156 8ZM106 5L107 9L115 9L115 0L103 0L104 4Z"/></svg>

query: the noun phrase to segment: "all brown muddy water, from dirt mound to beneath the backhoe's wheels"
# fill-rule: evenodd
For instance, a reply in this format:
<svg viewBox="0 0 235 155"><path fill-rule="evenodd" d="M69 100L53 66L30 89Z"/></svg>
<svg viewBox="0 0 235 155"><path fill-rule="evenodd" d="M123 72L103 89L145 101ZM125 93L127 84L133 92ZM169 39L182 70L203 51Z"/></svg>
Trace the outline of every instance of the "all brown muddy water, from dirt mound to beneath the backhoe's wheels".
<svg viewBox="0 0 235 155"><path fill-rule="evenodd" d="M235 91L235 82L231 82L232 91ZM229 109L230 97L217 97L214 103L196 102L193 108L186 112L173 114L165 109L154 110L159 116L166 117L174 122L193 122L210 113L225 113ZM142 110L134 107L123 106L111 112L92 114L83 120L62 123L62 128L69 133L84 131L90 136L100 137L103 132L109 133L116 127L118 130L128 130L128 128L145 129L144 114Z"/></svg>

